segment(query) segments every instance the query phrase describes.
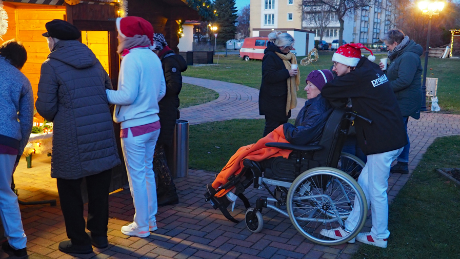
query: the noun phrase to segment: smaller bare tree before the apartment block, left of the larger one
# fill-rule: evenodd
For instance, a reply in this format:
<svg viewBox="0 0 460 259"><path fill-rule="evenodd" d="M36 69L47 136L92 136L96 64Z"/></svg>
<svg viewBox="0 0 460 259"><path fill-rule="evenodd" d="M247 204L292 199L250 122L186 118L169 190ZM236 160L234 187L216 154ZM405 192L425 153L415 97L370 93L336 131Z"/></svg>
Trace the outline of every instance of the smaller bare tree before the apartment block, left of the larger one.
<svg viewBox="0 0 460 259"><path fill-rule="evenodd" d="M332 21L333 10L327 5L310 6L304 8L304 14L303 20L318 29L319 41L323 41L324 31Z"/></svg>

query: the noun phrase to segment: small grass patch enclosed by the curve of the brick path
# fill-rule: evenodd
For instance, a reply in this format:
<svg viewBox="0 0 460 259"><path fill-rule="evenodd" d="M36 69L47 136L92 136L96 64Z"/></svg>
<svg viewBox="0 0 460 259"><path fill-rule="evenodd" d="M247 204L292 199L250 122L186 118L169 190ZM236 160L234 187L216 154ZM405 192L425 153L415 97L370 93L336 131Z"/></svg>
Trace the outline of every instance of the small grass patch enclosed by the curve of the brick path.
<svg viewBox="0 0 460 259"><path fill-rule="evenodd" d="M219 94L211 89L190 84L182 84L179 94L181 105L179 109L211 102L219 97Z"/></svg>

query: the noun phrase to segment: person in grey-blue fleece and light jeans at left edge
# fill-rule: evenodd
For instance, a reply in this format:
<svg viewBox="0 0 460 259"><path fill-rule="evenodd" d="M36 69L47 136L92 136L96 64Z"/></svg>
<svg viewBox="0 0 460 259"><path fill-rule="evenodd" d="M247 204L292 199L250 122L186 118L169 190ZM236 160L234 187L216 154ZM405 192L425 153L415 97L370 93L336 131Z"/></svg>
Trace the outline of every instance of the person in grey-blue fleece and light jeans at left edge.
<svg viewBox="0 0 460 259"><path fill-rule="evenodd" d="M26 60L26 49L15 39L0 46L0 216L7 238L2 248L16 256L27 255L21 211L11 189L11 177L32 130L32 87L19 71Z"/></svg>

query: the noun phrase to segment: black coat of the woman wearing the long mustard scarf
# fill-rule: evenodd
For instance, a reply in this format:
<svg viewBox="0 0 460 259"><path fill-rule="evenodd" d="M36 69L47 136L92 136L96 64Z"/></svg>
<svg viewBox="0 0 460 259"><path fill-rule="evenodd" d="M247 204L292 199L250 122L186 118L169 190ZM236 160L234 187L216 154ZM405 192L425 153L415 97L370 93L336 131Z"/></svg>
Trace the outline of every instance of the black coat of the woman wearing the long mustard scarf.
<svg viewBox="0 0 460 259"><path fill-rule="evenodd" d="M275 52L282 53L274 44L268 45L264 51L259 114L285 121L291 117L291 111L286 116L289 70Z"/></svg>

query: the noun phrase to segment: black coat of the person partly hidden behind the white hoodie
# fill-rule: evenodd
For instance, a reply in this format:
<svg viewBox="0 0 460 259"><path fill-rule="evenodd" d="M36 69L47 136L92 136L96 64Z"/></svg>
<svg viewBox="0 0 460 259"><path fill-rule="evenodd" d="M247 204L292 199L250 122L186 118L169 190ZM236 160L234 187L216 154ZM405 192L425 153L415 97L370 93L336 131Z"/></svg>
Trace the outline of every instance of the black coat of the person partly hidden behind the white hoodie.
<svg viewBox="0 0 460 259"><path fill-rule="evenodd" d="M176 119L179 113L179 93L182 89L182 72L187 70L187 62L174 51L166 51L160 57L166 80L166 95L158 102L159 122L162 129L159 132L158 144L171 145Z"/></svg>

